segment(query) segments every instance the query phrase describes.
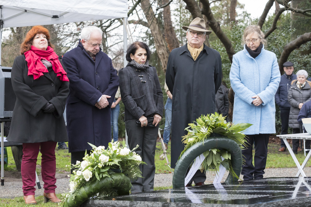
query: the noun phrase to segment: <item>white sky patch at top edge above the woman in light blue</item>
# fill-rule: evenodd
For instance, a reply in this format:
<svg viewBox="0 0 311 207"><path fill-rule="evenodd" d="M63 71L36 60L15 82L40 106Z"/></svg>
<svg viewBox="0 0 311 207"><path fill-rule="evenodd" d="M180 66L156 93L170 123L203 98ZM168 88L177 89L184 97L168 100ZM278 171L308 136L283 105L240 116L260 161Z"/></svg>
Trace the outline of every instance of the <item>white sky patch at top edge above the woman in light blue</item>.
<svg viewBox="0 0 311 207"><path fill-rule="evenodd" d="M245 10L251 14L252 18L258 18L261 16L268 0L238 0L241 4L244 4ZM283 7L283 6L281 6ZM269 11L269 15L273 14L275 11L275 3Z"/></svg>

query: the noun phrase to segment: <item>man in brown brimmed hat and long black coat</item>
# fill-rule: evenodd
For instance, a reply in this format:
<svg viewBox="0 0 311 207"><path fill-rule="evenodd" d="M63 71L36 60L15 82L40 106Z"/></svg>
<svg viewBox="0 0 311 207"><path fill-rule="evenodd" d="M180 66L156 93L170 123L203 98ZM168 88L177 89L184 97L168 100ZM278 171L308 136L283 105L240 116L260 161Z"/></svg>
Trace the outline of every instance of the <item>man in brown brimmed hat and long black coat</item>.
<svg viewBox="0 0 311 207"><path fill-rule="evenodd" d="M172 92L172 137L171 167L184 149L182 137L185 128L202 114L215 113L215 94L221 84L220 54L203 42L211 31L205 28L205 21L195 18L190 25L183 26L187 31L188 43L172 50L166 67L165 82ZM192 182L204 185L205 172L198 170Z"/></svg>

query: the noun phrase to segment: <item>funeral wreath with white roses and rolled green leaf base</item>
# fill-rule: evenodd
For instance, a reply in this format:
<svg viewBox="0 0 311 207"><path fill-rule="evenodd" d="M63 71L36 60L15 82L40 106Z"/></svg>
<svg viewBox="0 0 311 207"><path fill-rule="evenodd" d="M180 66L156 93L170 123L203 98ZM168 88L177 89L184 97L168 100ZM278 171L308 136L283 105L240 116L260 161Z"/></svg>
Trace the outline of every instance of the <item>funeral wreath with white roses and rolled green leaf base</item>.
<svg viewBox="0 0 311 207"><path fill-rule="evenodd" d="M89 143L90 144L90 143ZM91 154L85 154L82 162L73 165L70 178L70 191L64 199L64 207L80 206L88 198L98 199L105 196L129 194L131 179L142 178L139 165L145 164L134 152L119 142L109 142L104 146L93 147Z"/></svg>

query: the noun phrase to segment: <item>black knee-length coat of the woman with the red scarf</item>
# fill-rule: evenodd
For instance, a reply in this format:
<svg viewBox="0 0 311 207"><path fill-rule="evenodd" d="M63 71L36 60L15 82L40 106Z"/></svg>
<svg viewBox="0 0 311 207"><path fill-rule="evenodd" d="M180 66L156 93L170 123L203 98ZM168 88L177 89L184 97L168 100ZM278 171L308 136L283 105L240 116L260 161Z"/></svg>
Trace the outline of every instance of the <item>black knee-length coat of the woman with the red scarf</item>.
<svg viewBox="0 0 311 207"><path fill-rule="evenodd" d="M65 67L63 66L66 71ZM16 95L12 123L7 140L10 142L67 142L67 131L63 117L69 82L61 81L52 67L34 80L28 76L25 55L17 56L12 67L12 87ZM53 113L44 113L48 102L55 107Z"/></svg>

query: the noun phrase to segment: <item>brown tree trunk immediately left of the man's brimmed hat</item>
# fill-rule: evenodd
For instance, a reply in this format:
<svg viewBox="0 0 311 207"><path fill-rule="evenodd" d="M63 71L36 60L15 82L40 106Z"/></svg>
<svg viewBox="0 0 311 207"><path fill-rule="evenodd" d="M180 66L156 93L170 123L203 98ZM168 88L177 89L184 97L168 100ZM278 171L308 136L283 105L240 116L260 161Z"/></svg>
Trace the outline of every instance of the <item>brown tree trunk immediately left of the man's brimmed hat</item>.
<svg viewBox="0 0 311 207"><path fill-rule="evenodd" d="M169 0L162 0L162 4L166 4L168 2ZM165 40L167 47L169 48L169 52L171 52L174 48L179 47L179 41L172 25L171 10L169 5L163 8L163 22Z"/></svg>

